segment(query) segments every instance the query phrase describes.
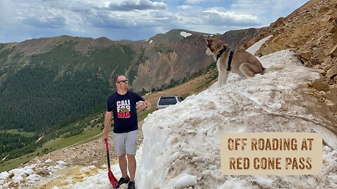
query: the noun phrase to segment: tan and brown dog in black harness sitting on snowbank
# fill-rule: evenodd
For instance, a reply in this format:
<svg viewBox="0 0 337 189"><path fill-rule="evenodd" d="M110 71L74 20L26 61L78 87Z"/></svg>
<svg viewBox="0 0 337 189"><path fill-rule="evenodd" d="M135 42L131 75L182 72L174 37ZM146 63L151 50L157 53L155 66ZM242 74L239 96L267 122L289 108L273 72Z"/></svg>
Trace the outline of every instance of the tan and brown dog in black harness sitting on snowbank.
<svg viewBox="0 0 337 189"><path fill-rule="evenodd" d="M225 41L219 38L205 38L206 39L206 55L213 55L218 67L218 86L225 84L230 71L239 74L244 78L250 78L257 73L265 73L265 68L261 62L245 50L232 50L228 47ZM231 51L234 55L230 55ZM232 62L228 65L228 60L232 56Z"/></svg>

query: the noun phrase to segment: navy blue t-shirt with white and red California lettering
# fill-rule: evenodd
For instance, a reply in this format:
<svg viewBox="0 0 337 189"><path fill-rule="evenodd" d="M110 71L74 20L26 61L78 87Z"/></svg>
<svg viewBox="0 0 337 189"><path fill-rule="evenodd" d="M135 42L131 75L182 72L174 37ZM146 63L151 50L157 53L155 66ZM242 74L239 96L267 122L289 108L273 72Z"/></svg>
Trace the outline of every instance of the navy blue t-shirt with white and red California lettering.
<svg viewBox="0 0 337 189"><path fill-rule="evenodd" d="M114 116L114 133L138 130L136 102L139 101L145 99L129 90L124 95L114 92L107 97L107 111Z"/></svg>

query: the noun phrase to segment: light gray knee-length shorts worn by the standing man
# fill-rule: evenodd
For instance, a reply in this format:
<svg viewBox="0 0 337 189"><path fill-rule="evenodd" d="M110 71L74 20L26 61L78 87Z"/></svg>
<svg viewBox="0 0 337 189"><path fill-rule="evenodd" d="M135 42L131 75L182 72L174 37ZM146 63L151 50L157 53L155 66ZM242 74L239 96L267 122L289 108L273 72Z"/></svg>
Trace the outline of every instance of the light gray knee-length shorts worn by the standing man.
<svg viewBox="0 0 337 189"><path fill-rule="evenodd" d="M114 133L114 149L117 157L126 154L136 155L138 130L124 133Z"/></svg>

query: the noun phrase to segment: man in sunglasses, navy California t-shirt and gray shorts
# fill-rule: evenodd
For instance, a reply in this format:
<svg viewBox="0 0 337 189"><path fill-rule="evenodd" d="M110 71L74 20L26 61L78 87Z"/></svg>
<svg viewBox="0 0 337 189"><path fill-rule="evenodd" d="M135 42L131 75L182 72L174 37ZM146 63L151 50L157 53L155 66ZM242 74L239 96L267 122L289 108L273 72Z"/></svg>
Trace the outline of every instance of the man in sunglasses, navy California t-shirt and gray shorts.
<svg viewBox="0 0 337 189"><path fill-rule="evenodd" d="M117 92L110 94L107 98L103 141L109 139L108 130L113 114L114 148L117 153L122 176L117 183L117 188L119 188L121 184L128 183L128 189L134 189L136 174L135 155L138 141L136 109L151 109L151 104L136 92L128 90L128 80L123 75L116 76L114 78L114 84L117 87ZM130 177L128 176L128 173L130 174Z"/></svg>

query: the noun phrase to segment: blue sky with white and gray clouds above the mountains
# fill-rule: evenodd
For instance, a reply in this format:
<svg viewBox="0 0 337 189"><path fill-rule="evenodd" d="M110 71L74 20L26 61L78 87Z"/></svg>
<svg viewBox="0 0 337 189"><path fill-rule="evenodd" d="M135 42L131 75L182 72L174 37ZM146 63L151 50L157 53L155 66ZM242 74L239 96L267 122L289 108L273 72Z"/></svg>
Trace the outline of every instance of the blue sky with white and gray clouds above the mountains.
<svg viewBox="0 0 337 189"><path fill-rule="evenodd" d="M308 0L0 0L0 43L70 35L140 40L269 26Z"/></svg>

